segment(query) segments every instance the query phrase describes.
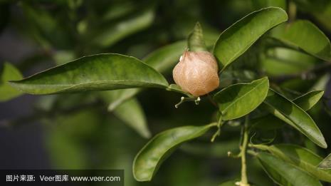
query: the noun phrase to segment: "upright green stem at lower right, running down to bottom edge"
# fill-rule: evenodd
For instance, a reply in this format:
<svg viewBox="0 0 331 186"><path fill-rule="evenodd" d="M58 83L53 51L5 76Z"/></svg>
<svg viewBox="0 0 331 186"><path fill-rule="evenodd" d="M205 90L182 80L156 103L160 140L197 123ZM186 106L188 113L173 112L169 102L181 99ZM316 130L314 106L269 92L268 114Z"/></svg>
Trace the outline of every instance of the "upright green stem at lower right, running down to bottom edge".
<svg viewBox="0 0 331 186"><path fill-rule="evenodd" d="M241 186L249 186L246 172L246 150L248 145L248 116L243 125L243 143L241 144Z"/></svg>

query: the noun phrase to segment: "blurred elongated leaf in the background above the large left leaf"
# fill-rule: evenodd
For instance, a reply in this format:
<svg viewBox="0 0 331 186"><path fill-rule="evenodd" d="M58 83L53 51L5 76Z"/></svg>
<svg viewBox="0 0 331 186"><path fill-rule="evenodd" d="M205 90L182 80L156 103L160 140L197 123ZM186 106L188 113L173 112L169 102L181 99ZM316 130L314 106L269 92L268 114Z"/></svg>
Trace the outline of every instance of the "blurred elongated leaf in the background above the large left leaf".
<svg viewBox="0 0 331 186"><path fill-rule="evenodd" d="M103 47L111 46L122 38L147 28L147 26L152 24L153 20L154 11L152 9L144 10L137 15L130 16L102 29L101 33L95 34L93 43Z"/></svg>

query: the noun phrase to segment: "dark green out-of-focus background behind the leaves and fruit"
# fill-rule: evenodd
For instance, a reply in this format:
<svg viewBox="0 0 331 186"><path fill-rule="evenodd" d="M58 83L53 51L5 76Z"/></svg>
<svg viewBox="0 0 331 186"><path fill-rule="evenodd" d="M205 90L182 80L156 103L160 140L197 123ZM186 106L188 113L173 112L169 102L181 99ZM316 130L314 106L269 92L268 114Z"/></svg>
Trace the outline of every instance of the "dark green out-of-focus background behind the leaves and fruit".
<svg viewBox="0 0 331 186"><path fill-rule="evenodd" d="M157 48L186 39L196 21L200 21L210 46L221 31L251 11L270 4L289 11L290 3L295 4L291 7L295 7L296 17L312 21L330 38L331 2L327 0L285 4L254 0L2 0L0 63L13 63L26 77L95 53L143 58ZM296 80L295 91L308 91L320 83L330 96L329 73L309 82ZM171 70L165 74L173 82ZM207 98L199 106L185 103L174 108L180 96L157 89L137 95L152 135L215 119L215 108ZM322 103L311 114L330 145L330 115ZM130 118L131 113L126 115ZM107 103L95 93L21 95L0 103L0 124L1 169L125 169L125 185L217 185L240 175L240 161L226 157L229 150L238 151L240 127L232 123L224 126L213 144L208 142L214 131L183 145L163 163L152 182L136 182L132 161L147 139L108 112ZM289 138L298 139L294 130L285 130ZM330 153L300 139L298 143L320 155ZM273 185L252 157L248 159L248 176L258 185Z"/></svg>

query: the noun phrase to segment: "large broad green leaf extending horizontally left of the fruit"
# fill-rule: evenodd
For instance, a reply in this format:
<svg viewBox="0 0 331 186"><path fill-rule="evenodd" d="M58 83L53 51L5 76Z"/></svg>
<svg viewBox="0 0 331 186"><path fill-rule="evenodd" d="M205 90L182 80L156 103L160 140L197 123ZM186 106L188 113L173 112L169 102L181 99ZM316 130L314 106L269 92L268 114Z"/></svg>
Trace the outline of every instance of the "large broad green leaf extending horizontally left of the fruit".
<svg viewBox="0 0 331 186"><path fill-rule="evenodd" d="M115 53L78 58L11 85L31 94L107 91L122 88L167 88L165 78L137 58Z"/></svg>

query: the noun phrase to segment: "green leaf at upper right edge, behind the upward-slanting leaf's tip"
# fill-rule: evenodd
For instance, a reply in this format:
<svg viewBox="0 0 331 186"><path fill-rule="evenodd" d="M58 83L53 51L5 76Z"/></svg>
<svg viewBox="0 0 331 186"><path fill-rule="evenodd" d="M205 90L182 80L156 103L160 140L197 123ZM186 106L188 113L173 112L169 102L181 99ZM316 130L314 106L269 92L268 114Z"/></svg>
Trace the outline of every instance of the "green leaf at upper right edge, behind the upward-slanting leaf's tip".
<svg viewBox="0 0 331 186"><path fill-rule="evenodd" d="M297 48L325 61L331 60L329 38L310 21L299 20L293 24L277 26L272 37L291 48Z"/></svg>

